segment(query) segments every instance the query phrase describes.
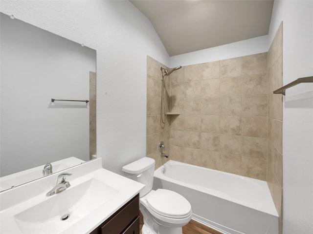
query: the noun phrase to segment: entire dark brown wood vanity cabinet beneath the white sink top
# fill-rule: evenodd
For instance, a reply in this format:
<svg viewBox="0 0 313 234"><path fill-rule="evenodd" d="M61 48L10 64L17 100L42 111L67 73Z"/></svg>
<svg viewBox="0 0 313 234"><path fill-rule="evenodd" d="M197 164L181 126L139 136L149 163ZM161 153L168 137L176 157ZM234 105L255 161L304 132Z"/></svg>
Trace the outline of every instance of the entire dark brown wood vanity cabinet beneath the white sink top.
<svg viewBox="0 0 313 234"><path fill-rule="evenodd" d="M139 194L90 234L139 234Z"/></svg>

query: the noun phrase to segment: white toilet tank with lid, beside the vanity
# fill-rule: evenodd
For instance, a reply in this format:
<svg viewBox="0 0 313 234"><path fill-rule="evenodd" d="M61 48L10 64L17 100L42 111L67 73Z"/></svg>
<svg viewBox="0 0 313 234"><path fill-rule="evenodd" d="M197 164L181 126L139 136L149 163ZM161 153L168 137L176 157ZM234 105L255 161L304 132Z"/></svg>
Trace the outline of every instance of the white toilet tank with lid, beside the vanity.
<svg viewBox="0 0 313 234"><path fill-rule="evenodd" d="M152 190L155 164L155 159L151 157L143 157L122 167L123 176L146 185L140 191L140 197Z"/></svg>

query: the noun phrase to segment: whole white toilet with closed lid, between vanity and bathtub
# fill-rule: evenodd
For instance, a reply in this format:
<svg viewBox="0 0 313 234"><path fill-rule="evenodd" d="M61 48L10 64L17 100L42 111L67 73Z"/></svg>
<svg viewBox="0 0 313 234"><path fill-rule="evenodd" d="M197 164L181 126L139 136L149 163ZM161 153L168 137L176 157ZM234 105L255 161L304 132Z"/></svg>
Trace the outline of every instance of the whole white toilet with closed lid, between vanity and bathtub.
<svg viewBox="0 0 313 234"><path fill-rule="evenodd" d="M122 168L124 176L146 185L140 192L142 234L182 234L192 215L191 205L176 192L152 190L155 160L143 157Z"/></svg>

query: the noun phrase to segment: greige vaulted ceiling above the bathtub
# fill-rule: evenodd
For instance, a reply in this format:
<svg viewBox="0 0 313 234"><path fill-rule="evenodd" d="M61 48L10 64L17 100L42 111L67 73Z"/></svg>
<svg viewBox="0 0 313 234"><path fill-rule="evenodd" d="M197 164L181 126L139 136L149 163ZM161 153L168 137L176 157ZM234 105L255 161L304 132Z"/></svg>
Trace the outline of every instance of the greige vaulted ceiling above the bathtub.
<svg viewBox="0 0 313 234"><path fill-rule="evenodd" d="M130 0L170 56L268 35L273 0Z"/></svg>

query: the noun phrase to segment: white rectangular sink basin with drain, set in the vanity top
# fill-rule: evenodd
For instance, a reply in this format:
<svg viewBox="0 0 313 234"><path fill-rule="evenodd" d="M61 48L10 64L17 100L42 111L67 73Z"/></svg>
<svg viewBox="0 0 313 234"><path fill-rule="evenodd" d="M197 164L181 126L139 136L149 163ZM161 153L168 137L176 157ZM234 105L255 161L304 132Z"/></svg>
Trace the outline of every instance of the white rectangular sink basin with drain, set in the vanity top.
<svg viewBox="0 0 313 234"><path fill-rule="evenodd" d="M60 233L117 193L118 190L92 178L14 215L14 220L22 233Z"/></svg>

